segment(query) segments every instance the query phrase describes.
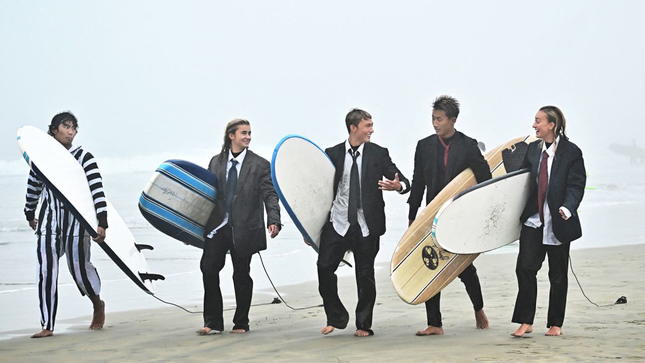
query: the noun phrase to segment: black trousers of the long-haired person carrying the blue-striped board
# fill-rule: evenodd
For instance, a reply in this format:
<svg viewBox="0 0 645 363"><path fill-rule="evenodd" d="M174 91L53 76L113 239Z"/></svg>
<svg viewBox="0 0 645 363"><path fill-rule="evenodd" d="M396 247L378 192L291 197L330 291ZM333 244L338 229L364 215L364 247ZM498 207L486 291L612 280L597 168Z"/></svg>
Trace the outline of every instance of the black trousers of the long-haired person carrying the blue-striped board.
<svg viewBox="0 0 645 363"><path fill-rule="evenodd" d="M230 249L233 262L233 287L235 288L235 315L233 329L248 331L248 311L253 296L251 257L239 256L233 246L230 225L220 228L213 238L206 238L200 268L204 282L204 327L224 330L222 291L219 288L219 271L224 268L226 251Z"/></svg>

